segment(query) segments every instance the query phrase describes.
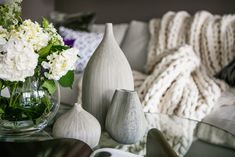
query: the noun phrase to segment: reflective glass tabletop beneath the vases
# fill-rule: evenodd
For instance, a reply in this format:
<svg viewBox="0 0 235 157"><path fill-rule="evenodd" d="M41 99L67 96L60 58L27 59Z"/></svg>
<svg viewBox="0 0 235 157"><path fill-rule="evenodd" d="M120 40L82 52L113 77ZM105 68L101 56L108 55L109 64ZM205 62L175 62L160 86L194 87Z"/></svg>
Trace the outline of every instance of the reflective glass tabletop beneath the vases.
<svg viewBox="0 0 235 157"><path fill-rule="evenodd" d="M130 152L139 156L165 157L158 156L158 151L162 147L158 139L148 135L150 130L156 128L167 142L170 149L178 157L234 157L235 156L235 136L222 129L178 116L165 114L145 113L148 127L146 134L135 144L125 145L115 142L107 132L103 132L99 145L93 150L102 148L114 148L124 152ZM156 133L157 134L157 133ZM160 136L160 135L156 135ZM2 138L3 139L3 138ZM45 131L27 137L7 139L5 141L35 141L53 139L50 128ZM154 144L156 143L156 145ZM151 148L150 148L151 147ZM154 152L155 151L155 152ZM171 150L169 150L170 152ZM167 155L166 157L171 157ZM173 153L173 154L174 154ZM149 154L155 154L149 155ZM45 156L46 157L46 156ZM50 156L51 157L51 156Z"/></svg>

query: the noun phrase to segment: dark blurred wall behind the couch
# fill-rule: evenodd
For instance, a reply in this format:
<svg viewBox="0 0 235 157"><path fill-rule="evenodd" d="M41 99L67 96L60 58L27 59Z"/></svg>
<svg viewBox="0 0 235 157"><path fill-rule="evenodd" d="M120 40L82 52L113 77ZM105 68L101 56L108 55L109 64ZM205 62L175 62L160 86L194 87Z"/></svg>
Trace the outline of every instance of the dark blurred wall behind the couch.
<svg viewBox="0 0 235 157"><path fill-rule="evenodd" d="M24 0L23 17L39 20L53 11L95 12L96 22L148 21L167 11L186 10L191 14L208 10L214 14L235 13L235 0Z"/></svg>

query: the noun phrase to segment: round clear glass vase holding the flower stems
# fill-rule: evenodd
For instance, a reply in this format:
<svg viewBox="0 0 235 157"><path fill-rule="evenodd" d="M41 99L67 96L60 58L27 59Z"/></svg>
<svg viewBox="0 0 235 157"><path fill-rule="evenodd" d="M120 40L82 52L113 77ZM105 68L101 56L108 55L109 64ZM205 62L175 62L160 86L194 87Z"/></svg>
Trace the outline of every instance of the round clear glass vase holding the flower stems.
<svg viewBox="0 0 235 157"><path fill-rule="evenodd" d="M0 135L24 135L44 129L59 108L60 90L56 86L55 94L50 95L39 79L29 77L1 91Z"/></svg>

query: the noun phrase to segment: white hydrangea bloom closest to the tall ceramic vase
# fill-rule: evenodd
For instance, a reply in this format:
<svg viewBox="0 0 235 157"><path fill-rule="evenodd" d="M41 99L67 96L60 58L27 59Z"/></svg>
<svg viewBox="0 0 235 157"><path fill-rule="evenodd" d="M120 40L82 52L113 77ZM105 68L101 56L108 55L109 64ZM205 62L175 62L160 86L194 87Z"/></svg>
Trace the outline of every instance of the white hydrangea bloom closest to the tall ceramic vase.
<svg viewBox="0 0 235 157"><path fill-rule="evenodd" d="M60 53L53 53L47 57L48 62L42 62L42 66L48 69L45 76L48 79L59 80L68 71L74 70L78 59L78 49L71 48Z"/></svg>

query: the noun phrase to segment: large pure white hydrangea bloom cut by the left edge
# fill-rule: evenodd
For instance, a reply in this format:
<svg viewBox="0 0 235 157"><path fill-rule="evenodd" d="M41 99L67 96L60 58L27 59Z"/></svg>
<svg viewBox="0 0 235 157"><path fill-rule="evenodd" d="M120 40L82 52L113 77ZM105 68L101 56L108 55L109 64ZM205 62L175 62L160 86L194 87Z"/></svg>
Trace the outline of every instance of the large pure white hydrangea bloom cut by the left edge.
<svg viewBox="0 0 235 157"><path fill-rule="evenodd" d="M0 56L0 78L9 81L24 81L33 76L38 63L31 45L17 38L10 38L3 46L4 53Z"/></svg>

